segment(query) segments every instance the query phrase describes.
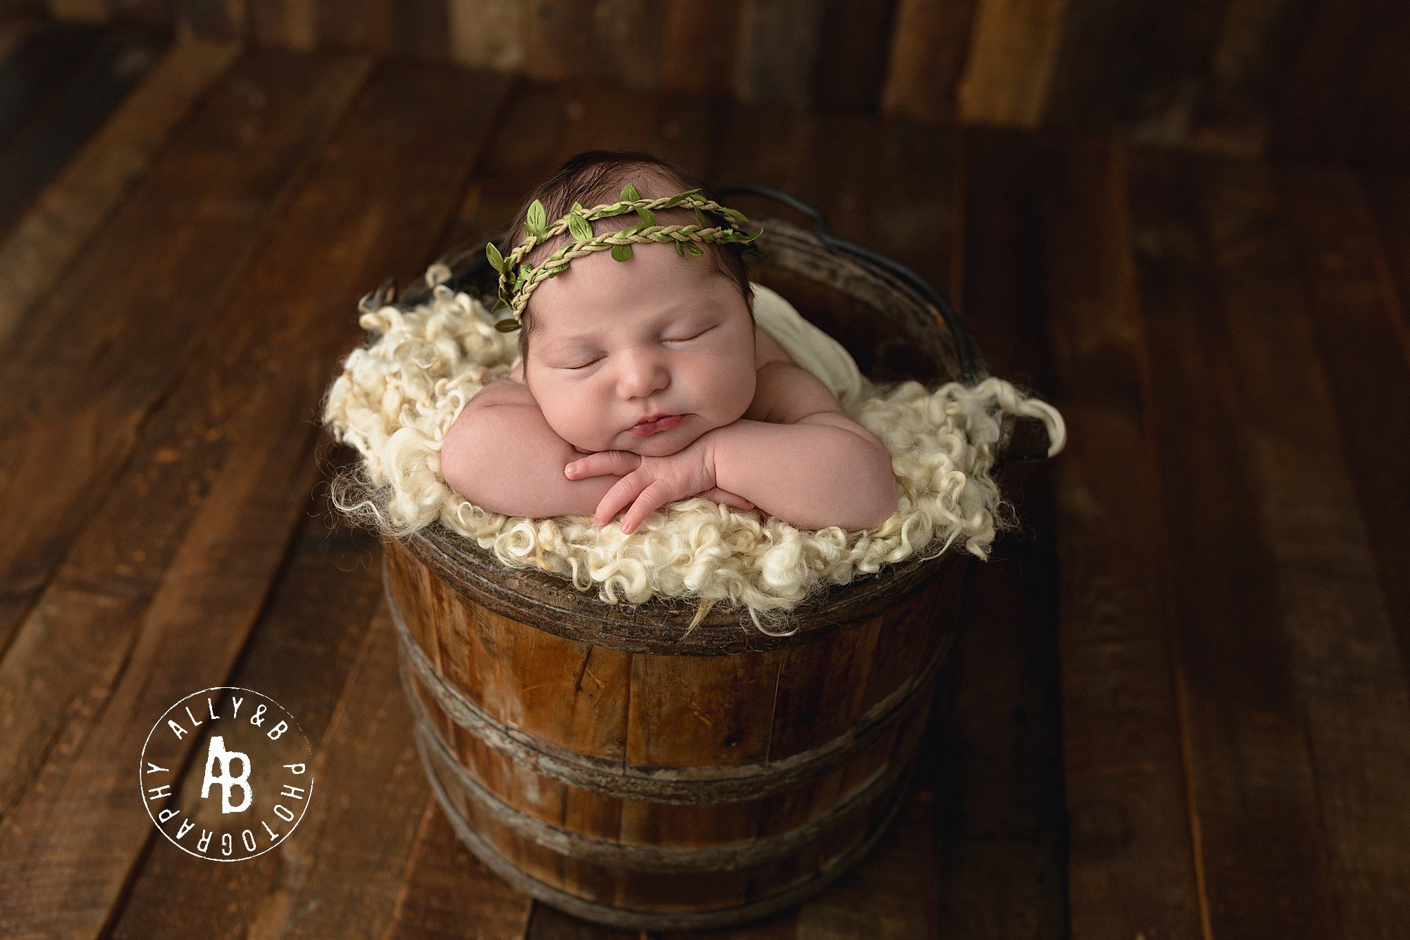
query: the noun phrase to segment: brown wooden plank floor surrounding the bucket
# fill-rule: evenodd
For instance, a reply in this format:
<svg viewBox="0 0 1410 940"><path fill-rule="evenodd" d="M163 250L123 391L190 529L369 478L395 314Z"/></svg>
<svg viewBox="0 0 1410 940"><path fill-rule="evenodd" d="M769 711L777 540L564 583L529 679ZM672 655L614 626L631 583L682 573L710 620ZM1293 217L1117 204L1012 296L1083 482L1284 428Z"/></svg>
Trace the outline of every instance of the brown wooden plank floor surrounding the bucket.
<svg viewBox="0 0 1410 940"><path fill-rule="evenodd" d="M591 147L814 202L1069 421L1005 471L898 823L695 936L1406 936L1410 176L27 20L0 79L0 936L633 936L457 841L319 427L357 299ZM131 778L221 685L320 781L230 865Z"/></svg>

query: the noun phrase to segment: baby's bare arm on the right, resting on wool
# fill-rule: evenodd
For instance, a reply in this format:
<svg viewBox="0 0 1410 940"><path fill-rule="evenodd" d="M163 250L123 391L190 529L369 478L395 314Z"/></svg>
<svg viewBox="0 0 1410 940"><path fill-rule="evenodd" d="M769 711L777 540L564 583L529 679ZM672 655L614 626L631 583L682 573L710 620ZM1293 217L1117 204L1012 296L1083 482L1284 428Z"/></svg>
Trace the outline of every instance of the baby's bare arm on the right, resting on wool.
<svg viewBox="0 0 1410 940"><path fill-rule="evenodd" d="M746 417L709 434L716 486L799 528L874 528L895 512L885 444L791 362L760 369Z"/></svg>

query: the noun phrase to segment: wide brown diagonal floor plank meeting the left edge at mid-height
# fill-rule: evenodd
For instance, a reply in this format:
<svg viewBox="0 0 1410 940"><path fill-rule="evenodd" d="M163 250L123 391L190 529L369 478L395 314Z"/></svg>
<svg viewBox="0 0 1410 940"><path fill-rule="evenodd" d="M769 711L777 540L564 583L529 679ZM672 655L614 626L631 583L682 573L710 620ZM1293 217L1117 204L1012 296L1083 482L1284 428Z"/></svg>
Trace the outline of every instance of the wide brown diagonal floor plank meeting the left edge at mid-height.
<svg viewBox="0 0 1410 940"><path fill-rule="evenodd" d="M0 530L16 534L0 545L0 645L102 503L364 70L281 54L243 61L21 324L0 359L0 382L23 389L0 406Z"/></svg>

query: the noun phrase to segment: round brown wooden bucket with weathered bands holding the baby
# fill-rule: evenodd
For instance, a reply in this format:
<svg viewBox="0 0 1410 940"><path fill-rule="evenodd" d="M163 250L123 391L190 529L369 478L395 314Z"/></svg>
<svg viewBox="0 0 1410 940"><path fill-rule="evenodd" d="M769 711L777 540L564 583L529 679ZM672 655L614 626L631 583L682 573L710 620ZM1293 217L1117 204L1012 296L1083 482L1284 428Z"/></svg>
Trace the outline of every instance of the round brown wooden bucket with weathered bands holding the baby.
<svg viewBox="0 0 1410 940"><path fill-rule="evenodd" d="M766 237L752 278L874 381L957 378L904 280L777 220ZM694 603L608 605L440 526L384 548L416 744L458 836L519 891L647 930L771 913L876 843L967 568L952 551L835 586L787 637L716 610L681 638Z"/></svg>

